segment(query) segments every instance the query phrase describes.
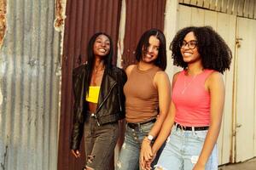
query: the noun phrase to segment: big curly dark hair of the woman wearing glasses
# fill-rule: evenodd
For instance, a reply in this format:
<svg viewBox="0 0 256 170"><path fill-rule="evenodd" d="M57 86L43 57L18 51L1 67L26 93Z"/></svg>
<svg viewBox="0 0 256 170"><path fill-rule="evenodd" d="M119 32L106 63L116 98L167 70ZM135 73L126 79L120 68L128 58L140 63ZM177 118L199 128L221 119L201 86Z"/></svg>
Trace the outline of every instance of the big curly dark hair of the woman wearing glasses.
<svg viewBox="0 0 256 170"><path fill-rule="evenodd" d="M180 44L189 32L194 32L197 39L198 52L201 55L204 69L212 69L223 73L230 69L232 53L224 39L218 35L211 26L189 26L177 31L173 38L170 49L172 50L173 65L181 66L183 69L188 64L183 61L180 52Z"/></svg>

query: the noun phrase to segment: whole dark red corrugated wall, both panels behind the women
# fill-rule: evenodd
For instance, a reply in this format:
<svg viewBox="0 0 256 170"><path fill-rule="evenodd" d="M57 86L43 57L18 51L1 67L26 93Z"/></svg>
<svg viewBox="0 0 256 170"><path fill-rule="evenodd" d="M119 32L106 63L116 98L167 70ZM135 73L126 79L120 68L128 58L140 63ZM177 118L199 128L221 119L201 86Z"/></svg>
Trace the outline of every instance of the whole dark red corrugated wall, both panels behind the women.
<svg viewBox="0 0 256 170"><path fill-rule="evenodd" d="M125 30L119 30L121 3L126 5ZM79 160L71 156L68 144L73 122L72 70L86 60L85 49L89 38L96 31L106 31L113 37L117 47L119 31L125 31L123 65L129 65L134 61L132 52L143 31L151 27L163 30L165 4L166 0L67 1L58 169L79 169L84 163L84 156ZM80 58L79 54L81 54ZM115 64L116 59L114 61Z"/></svg>

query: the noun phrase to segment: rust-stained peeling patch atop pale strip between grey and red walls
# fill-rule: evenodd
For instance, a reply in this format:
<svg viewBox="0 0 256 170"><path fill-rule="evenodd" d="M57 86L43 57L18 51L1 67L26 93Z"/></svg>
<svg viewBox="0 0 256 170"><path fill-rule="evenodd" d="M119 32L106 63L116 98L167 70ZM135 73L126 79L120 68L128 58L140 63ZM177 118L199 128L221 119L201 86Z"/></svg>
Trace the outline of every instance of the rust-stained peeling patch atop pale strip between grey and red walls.
<svg viewBox="0 0 256 170"><path fill-rule="evenodd" d="M65 15L66 0L55 0L55 30L63 31Z"/></svg>

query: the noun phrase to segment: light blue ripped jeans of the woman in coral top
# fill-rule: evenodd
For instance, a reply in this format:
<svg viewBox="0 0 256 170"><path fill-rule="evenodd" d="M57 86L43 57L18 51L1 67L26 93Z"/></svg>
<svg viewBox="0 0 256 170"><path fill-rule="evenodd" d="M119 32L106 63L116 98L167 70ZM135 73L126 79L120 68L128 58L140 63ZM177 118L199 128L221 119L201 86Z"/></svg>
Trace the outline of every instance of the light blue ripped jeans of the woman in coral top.
<svg viewBox="0 0 256 170"><path fill-rule="evenodd" d="M207 132L207 130L184 131L174 125L160 159L154 167L161 167L163 170L192 170L200 156ZM207 161L206 170L218 170L216 144Z"/></svg>

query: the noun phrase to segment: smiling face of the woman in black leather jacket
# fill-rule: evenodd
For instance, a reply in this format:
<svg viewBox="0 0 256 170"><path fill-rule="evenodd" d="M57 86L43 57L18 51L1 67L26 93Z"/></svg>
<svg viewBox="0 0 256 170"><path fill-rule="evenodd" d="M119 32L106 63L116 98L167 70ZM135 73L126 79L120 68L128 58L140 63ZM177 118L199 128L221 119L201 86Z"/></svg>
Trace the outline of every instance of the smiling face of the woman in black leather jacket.
<svg viewBox="0 0 256 170"><path fill-rule="evenodd" d="M110 41L107 36L105 35L99 35L96 37L96 41L93 45L93 52L95 56L106 56L108 55L110 50Z"/></svg>

